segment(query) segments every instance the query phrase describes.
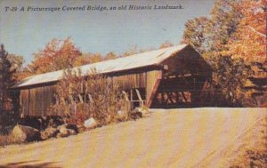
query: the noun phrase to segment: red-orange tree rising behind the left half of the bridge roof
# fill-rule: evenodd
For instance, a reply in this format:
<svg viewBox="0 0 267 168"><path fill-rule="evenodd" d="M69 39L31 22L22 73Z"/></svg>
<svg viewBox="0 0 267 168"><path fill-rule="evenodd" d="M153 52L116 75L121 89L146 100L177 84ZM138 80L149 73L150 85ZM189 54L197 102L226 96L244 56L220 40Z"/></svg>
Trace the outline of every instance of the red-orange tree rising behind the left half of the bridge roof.
<svg viewBox="0 0 267 168"><path fill-rule="evenodd" d="M32 74L73 68L74 60L81 55L82 53L71 42L70 37L65 40L53 39L43 50L34 53L35 60L28 68Z"/></svg>

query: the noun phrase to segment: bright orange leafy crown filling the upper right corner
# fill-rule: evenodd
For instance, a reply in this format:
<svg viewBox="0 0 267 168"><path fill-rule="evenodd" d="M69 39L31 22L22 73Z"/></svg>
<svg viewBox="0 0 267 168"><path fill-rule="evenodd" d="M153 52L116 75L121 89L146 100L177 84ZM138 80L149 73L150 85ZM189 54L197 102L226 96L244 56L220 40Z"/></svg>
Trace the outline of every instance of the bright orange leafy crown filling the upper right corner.
<svg viewBox="0 0 267 168"><path fill-rule="evenodd" d="M239 4L243 18L223 52L232 58L243 58L247 63L257 62L264 67L266 60L266 1L244 0Z"/></svg>

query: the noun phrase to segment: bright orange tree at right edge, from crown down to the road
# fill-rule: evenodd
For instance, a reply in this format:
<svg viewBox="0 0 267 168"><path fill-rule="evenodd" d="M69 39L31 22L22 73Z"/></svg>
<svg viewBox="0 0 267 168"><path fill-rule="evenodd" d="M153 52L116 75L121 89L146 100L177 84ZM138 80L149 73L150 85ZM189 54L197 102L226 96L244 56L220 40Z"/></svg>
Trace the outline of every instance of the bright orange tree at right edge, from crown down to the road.
<svg viewBox="0 0 267 168"><path fill-rule="evenodd" d="M244 0L239 4L242 19L222 54L233 60L243 59L244 64L252 68L245 88L244 103L250 106L266 107L267 97L267 42L266 42L266 1ZM247 99L247 100L246 100ZM249 100L249 101L248 101ZM265 105L264 105L265 104Z"/></svg>

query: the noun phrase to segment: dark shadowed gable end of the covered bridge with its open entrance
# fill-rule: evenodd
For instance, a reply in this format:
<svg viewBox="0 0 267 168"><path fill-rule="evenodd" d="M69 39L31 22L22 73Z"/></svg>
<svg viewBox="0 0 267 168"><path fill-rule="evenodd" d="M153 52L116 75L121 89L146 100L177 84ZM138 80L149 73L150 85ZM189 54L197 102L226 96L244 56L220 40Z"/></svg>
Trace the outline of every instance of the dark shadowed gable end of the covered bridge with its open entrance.
<svg viewBox="0 0 267 168"><path fill-rule="evenodd" d="M153 87L152 108L198 107L203 104L207 83L212 78L212 68L193 48L188 46L163 61L166 69L162 79ZM184 97L190 95L188 100ZM183 99L183 100L182 100Z"/></svg>

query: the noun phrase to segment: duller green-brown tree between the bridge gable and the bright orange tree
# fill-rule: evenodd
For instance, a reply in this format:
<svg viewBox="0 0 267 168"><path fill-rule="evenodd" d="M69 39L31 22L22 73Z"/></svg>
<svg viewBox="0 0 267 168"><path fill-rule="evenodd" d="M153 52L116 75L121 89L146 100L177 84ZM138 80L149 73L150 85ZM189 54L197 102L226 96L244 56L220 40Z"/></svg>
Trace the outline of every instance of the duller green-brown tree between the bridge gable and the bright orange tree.
<svg viewBox="0 0 267 168"><path fill-rule="evenodd" d="M223 56L243 18L243 13L239 11L242 3L240 0L217 0L210 19L201 17L186 23L182 39L183 43L197 47L198 52L212 65L216 76L214 83L231 106L240 105L240 92L245 92L244 81L250 76L250 67L244 64L243 58Z"/></svg>

